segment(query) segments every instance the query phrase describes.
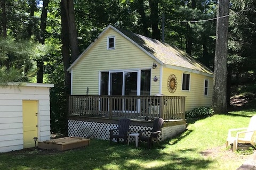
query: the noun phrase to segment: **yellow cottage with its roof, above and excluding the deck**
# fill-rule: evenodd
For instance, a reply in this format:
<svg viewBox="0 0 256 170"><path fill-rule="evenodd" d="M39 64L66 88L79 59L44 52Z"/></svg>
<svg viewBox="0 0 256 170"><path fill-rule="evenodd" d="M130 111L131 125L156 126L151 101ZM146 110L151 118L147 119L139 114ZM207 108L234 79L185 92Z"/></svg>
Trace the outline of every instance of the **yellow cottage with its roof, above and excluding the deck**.
<svg viewBox="0 0 256 170"><path fill-rule="evenodd" d="M177 47L109 25L68 68L71 95L186 96L211 106L213 72ZM173 86L174 84L174 86Z"/></svg>

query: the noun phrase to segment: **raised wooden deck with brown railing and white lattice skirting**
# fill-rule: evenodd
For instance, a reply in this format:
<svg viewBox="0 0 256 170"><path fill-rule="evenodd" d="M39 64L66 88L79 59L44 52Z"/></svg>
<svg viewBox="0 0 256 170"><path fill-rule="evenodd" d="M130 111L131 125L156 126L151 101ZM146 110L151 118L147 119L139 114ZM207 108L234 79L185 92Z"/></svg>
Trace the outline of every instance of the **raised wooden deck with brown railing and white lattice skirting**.
<svg viewBox="0 0 256 170"><path fill-rule="evenodd" d="M131 120L130 132L149 130L157 117L164 119L159 140L185 131L185 96L69 96L68 135L109 140L118 120Z"/></svg>

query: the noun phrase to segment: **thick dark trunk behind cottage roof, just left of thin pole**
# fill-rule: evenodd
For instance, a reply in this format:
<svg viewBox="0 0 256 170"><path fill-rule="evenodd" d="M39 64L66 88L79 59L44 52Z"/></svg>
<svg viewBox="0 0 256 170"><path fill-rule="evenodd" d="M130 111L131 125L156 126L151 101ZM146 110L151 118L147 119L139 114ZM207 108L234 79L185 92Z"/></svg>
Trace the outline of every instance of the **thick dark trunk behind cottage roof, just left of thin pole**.
<svg viewBox="0 0 256 170"><path fill-rule="evenodd" d="M150 19L152 28L152 38L161 40L160 30L158 28L158 2L159 0L150 0Z"/></svg>

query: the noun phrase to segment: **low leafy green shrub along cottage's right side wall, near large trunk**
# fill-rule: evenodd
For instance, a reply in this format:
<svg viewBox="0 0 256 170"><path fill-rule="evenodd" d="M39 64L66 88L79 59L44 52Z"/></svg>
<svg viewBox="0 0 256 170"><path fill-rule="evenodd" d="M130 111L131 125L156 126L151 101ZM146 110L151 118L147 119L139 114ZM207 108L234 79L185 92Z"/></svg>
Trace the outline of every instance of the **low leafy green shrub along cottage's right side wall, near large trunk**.
<svg viewBox="0 0 256 170"><path fill-rule="evenodd" d="M196 107L186 112L186 118L204 118L213 115L213 109L209 107Z"/></svg>

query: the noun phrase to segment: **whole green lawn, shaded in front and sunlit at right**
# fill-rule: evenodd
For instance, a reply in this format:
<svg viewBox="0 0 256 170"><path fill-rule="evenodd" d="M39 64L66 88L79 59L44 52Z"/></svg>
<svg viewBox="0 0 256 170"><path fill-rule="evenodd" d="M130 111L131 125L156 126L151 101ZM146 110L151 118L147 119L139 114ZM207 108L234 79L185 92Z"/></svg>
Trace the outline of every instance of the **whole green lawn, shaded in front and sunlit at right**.
<svg viewBox="0 0 256 170"><path fill-rule="evenodd" d="M185 132L148 150L103 140L68 151L21 150L0 154L0 169L237 169L243 162L222 159L228 129L247 126L255 109L188 120ZM217 157L202 152L223 147ZM227 150L226 150L227 151ZM231 154L234 154L231 152ZM236 155L235 155L236 156ZM239 157L239 155L238 155Z"/></svg>

